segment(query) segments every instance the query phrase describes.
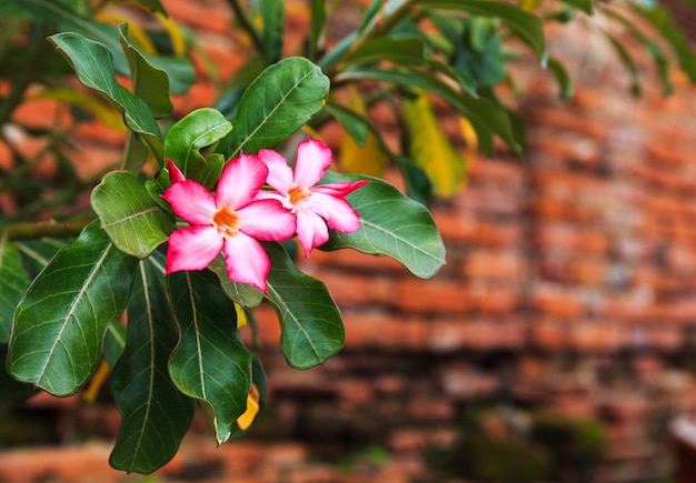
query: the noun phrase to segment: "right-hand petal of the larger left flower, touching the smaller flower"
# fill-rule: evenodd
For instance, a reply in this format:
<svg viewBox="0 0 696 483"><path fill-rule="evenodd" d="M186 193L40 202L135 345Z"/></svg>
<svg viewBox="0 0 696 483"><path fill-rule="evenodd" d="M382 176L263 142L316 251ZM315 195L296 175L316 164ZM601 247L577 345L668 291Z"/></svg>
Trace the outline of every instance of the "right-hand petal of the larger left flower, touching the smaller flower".
<svg viewBox="0 0 696 483"><path fill-rule="evenodd" d="M295 215L277 200L258 200L237 210L239 230L264 241L288 240L295 234Z"/></svg>

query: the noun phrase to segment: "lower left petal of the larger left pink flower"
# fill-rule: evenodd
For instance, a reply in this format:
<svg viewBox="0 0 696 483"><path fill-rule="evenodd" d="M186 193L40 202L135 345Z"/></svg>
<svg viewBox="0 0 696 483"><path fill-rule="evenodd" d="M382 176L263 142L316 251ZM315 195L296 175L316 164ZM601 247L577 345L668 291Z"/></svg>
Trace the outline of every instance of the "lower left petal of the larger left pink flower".
<svg viewBox="0 0 696 483"><path fill-rule="evenodd" d="M166 275L181 270L203 270L222 250L213 227L186 227L169 235Z"/></svg>

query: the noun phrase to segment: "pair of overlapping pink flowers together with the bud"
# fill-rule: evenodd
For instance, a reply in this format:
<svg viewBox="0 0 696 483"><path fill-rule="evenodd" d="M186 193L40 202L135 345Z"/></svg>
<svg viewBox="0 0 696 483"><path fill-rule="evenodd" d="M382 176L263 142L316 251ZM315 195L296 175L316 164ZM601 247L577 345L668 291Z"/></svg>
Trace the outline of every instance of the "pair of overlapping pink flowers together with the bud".
<svg viewBox="0 0 696 483"><path fill-rule="evenodd" d="M266 292L270 260L259 241L297 233L309 256L327 242L329 228L358 230L359 215L345 197L367 181L317 184L331 160L331 150L317 140L299 143L295 171L274 150L241 154L227 163L215 193L168 160L172 184L162 198L190 225L169 235L166 274L203 270L222 252L231 281ZM266 184L272 190L264 190Z"/></svg>

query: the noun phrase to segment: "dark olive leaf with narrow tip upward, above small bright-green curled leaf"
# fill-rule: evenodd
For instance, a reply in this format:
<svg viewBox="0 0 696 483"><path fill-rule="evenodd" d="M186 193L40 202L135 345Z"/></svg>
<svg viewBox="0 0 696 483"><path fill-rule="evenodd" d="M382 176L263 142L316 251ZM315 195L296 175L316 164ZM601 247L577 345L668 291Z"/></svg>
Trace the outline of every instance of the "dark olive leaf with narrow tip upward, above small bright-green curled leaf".
<svg viewBox="0 0 696 483"><path fill-rule="evenodd" d="M150 64L128 38L128 24L119 27L120 41L130 66L133 93L142 99L156 118L171 113L173 105L169 100L169 77L167 72Z"/></svg>

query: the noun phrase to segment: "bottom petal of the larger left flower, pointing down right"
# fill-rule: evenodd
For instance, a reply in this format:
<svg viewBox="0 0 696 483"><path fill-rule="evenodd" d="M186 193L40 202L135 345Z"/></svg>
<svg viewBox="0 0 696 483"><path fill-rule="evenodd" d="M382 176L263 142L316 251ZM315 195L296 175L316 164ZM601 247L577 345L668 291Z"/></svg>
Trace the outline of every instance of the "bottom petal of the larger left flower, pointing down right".
<svg viewBox="0 0 696 483"><path fill-rule="evenodd" d="M264 246L243 233L225 240L225 266L232 282L248 283L266 292L270 260Z"/></svg>

